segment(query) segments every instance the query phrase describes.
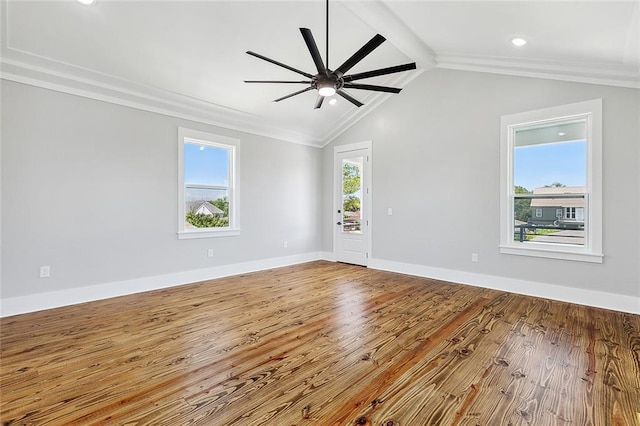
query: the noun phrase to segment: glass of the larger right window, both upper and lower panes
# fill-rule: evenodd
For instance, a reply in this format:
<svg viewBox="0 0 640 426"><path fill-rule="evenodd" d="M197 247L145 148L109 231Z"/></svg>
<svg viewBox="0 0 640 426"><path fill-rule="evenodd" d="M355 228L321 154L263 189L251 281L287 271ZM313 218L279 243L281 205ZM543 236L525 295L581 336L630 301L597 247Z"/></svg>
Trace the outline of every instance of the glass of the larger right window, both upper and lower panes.
<svg viewBox="0 0 640 426"><path fill-rule="evenodd" d="M584 120L516 130L513 149L516 240L584 245L585 138Z"/></svg>

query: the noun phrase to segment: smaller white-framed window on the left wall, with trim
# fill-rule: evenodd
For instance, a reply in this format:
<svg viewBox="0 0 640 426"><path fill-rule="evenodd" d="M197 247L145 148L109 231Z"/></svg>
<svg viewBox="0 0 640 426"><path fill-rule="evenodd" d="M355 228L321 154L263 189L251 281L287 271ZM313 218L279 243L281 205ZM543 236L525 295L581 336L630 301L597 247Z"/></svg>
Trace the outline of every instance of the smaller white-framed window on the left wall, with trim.
<svg viewBox="0 0 640 426"><path fill-rule="evenodd" d="M178 128L178 238L240 234L240 141Z"/></svg>

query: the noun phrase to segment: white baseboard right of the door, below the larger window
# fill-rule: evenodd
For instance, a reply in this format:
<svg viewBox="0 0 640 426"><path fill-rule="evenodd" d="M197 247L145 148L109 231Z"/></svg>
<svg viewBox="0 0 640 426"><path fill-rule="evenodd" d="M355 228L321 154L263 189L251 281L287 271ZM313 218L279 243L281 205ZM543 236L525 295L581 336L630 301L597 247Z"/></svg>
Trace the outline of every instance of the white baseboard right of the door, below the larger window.
<svg viewBox="0 0 640 426"><path fill-rule="evenodd" d="M369 268L383 271L398 272L418 277L433 278L458 284L542 297L579 305L595 306L612 309L614 311L640 314L640 297L622 294L606 293L603 291L585 290L575 287L565 287L555 284L545 284L534 281L518 280L514 278L498 277L494 275L477 274L473 272L455 271L452 269L435 268L431 266L394 262L383 259L369 259Z"/></svg>

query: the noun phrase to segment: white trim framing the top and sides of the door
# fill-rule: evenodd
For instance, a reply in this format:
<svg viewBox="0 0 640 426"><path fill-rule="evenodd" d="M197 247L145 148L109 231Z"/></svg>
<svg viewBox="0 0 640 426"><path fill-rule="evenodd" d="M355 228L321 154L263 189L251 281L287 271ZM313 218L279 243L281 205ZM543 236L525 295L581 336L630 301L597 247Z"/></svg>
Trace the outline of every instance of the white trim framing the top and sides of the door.
<svg viewBox="0 0 640 426"><path fill-rule="evenodd" d="M366 232L366 250L367 250L367 254L365 257L365 264L363 266L367 267L369 264L369 260L371 259L371 235L373 234L371 231L373 229L373 221L372 221L372 207L373 204L371 202L371 200L373 199L373 179L372 179L372 174L371 174L371 163L373 161L373 150L372 150L372 142L369 141L363 141L363 142L356 142L356 143L352 143L352 144L347 144L347 145L338 145L333 147L333 184L331 187L331 197L333 199L332 207L333 210L331 211L331 227L332 227L332 231L331 231L331 235L332 235L332 242L333 242L333 258L335 261L338 261L338 253L337 253L337 247L338 247L338 231L335 225L335 215L336 212L338 211L338 208L342 209L342 204L338 203L338 194L337 194L337 188L338 188L338 177L341 176L341 174L339 174L339 172L341 173L341 170L338 170L338 162L337 162L337 156L338 154L341 153L345 153L345 152L350 152L350 151L358 151L358 150L362 150L365 149L367 150L367 156L368 161L365 162L365 166L364 166L364 176L365 176L365 180L367 185L367 191L365 191L364 194L364 204L365 206L368 206L368 208L365 209L365 215L362 217L362 222L364 224L363 229Z"/></svg>

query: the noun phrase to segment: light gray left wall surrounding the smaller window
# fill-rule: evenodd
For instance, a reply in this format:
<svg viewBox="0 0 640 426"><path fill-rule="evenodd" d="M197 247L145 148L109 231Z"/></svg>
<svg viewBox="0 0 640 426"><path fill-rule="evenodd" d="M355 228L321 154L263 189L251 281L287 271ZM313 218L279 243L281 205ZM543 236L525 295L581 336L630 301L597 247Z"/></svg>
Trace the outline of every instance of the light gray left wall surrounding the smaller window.
<svg viewBox="0 0 640 426"><path fill-rule="evenodd" d="M12 82L1 90L2 298L320 250L321 150ZM178 126L241 139L239 237L177 239Z"/></svg>

